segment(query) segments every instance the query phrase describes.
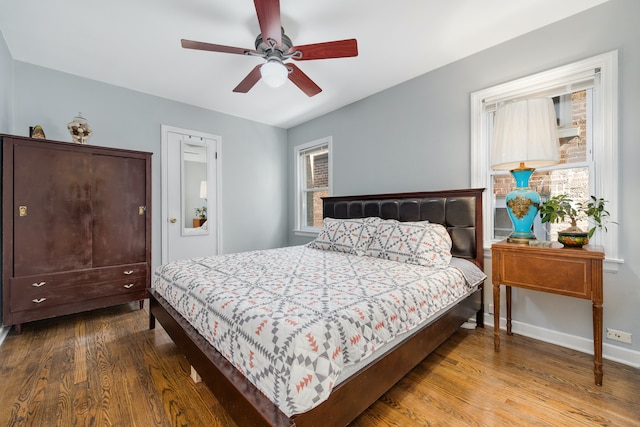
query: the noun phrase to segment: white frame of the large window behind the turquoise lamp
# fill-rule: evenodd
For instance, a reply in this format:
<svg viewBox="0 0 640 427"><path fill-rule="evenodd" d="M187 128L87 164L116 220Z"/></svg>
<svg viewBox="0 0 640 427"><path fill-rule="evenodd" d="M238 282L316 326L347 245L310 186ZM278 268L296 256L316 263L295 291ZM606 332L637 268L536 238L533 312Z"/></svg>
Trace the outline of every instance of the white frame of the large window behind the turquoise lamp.
<svg viewBox="0 0 640 427"><path fill-rule="evenodd" d="M593 73L599 69L598 105L594 106L593 161L595 176L590 177L593 187L590 192L607 200L607 210L611 221L618 218L618 51L577 61L551 70L512 80L471 94L471 186L486 188L483 194L485 254L493 240L494 198L491 187L491 166L489 140L491 123L487 123L484 111L485 100L505 99L538 93L545 88L558 86L574 76ZM594 244L605 249L604 269L618 271L619 258L618 227L608 227L606 233L597 233Z"/></svg>

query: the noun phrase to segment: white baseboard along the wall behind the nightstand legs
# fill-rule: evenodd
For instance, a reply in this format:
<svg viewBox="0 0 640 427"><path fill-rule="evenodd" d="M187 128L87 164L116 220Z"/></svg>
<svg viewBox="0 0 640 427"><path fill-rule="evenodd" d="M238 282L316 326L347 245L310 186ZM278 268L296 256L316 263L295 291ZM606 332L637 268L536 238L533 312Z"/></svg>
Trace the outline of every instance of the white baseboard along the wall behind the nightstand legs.
<svg viewBox="0 0 640 427"><path fill-rule="evenodd" d="M494 326L493 314L485 313L484 323L487 326ZM507 330L507 319L500 318L500 329ZM583 353L593 354L593 341L591 339L565 334L564 332L541 328L515 320L511 321L511 330L513 333L524 335L525 337L534 338ZM603 343L602 357L607 360L629 365L636 369L640 368L640 351Z"/></svg>

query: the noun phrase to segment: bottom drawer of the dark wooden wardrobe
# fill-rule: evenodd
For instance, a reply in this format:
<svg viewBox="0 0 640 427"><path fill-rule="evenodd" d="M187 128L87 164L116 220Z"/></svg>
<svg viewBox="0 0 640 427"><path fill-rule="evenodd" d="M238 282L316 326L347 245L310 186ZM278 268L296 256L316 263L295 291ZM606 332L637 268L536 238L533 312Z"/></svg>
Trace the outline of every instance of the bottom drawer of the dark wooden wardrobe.
<svg viewBox="0 0 640 427"><path fill-rule="evenodd" d="M93 298L144 291L146 288L146 275L98 283L57 283L55 286L46 284L36 287L12 284L11 309L13 311L37 310Z"/></svg>

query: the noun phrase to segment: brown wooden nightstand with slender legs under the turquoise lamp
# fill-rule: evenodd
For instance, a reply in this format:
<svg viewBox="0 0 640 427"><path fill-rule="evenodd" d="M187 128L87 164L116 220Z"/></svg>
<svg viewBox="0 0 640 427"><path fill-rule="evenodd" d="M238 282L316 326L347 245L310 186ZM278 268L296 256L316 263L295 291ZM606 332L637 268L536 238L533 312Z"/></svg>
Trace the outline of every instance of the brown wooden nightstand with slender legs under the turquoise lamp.
<svg viewBox="0 0 640 427"><path fill-rule="evenodd" d="M590 299L596 385L602 385L602 261L600 246L564 248L502 241L491 246L494 347L500 351L500 285L506 286L507 334L511 335L511 287Z"/></svg>

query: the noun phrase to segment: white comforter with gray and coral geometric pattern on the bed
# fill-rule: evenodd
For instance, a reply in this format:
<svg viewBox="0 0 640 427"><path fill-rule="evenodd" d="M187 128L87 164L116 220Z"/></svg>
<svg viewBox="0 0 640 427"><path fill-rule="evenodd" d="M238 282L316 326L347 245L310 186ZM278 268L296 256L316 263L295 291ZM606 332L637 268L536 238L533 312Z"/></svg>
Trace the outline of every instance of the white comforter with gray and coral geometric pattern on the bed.
<svg viewBox="0 0 640 427"><path fill-rule="evenodd" d="M287 416L474 288L454 267L307 246L175 261L153 287Z"/></svg>

